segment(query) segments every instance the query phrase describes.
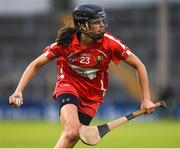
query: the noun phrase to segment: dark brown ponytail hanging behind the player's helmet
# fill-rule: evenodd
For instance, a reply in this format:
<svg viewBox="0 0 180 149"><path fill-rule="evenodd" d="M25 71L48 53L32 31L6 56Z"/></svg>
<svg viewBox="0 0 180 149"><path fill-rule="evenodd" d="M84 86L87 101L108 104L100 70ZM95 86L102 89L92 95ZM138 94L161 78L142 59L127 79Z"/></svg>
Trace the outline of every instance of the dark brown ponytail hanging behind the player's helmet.
<svg viewBox="0 0 180 149"><path fill-rule="evenodd" d="M63 27L58 31L56 42L62 47L67 47L73 39L74 33L77 31L75 27Z"/></svg>

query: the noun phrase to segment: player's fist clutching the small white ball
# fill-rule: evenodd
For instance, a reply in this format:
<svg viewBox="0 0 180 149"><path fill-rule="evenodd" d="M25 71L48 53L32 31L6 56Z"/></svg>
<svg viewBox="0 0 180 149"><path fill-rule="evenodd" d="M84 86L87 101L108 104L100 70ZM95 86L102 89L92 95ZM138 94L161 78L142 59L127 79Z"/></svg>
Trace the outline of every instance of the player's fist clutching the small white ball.
<svg viewBox="0 0 180 149"><path fill-rule="evenodd" d="M14 107L18 108L23 104L23 96L21 92L15 92L9 97L9 104Z"/></svg>

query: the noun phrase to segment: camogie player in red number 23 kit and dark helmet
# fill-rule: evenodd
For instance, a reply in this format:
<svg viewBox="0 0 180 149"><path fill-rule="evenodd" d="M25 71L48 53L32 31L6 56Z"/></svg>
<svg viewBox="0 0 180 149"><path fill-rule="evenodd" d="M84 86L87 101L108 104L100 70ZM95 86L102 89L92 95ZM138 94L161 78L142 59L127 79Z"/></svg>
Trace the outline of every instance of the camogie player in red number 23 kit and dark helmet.
<svg viewBox="0 0 180 149"><path fill-rule="evenodd" d="M55 148L73 147L79 140L81 124L89 125L108 86L108 65L120 60L132 66L142 89L141 107L154 111L150 100L148 75L144 64L118 38L106 32L106 13L97 5L83 4L73 11L75 27L59 30L56 42L44 49L25 70L9 103L23 103L22 92L36 72L53 59L59 70L54 98L60 105L62 134ZM19 102L17 102L19 101Z"/></svg>

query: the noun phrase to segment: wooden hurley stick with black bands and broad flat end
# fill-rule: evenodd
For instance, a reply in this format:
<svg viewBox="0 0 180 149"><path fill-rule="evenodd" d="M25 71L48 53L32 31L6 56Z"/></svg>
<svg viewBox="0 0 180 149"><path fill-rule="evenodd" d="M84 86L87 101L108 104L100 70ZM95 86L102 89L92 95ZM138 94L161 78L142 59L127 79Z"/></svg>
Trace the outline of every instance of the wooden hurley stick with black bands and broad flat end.
<svg viewBox="0 0 180 149"><path fill-rule="evenodd" d="M155 108L166 108L166 104L164 101L160 101L155 103ZM138 117L140 115L145 114L145 109L140 109L138 111L132 112L129 115L123 116L121 118L118 118L116 120L113 120L111 122L108 122L103 125L98 126L85 126L82 125L79 129L79 136L82 142L84 142L87 145L96 145L101 138L106 135L108 132L110 132L113 128L116 128L119 125L122 125L123 123Z"/></svg>

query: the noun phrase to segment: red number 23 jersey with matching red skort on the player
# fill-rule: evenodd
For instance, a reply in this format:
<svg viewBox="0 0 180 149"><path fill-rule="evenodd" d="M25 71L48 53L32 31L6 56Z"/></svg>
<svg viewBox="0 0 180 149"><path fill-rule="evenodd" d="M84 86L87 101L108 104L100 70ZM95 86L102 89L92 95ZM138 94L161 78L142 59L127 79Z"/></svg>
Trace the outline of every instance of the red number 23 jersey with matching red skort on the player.
<svg viewBox="0 0 180 149"><path fill-rule="evenodd" d="M48 59L57 58L59 70L54 97L71 93L80 100L80 111L96 114L108 87L108 65L126 59L131 50L118 38L106 32L91 47L78 41L76 33L68 47L53 43L45 48Z"/></svg>

